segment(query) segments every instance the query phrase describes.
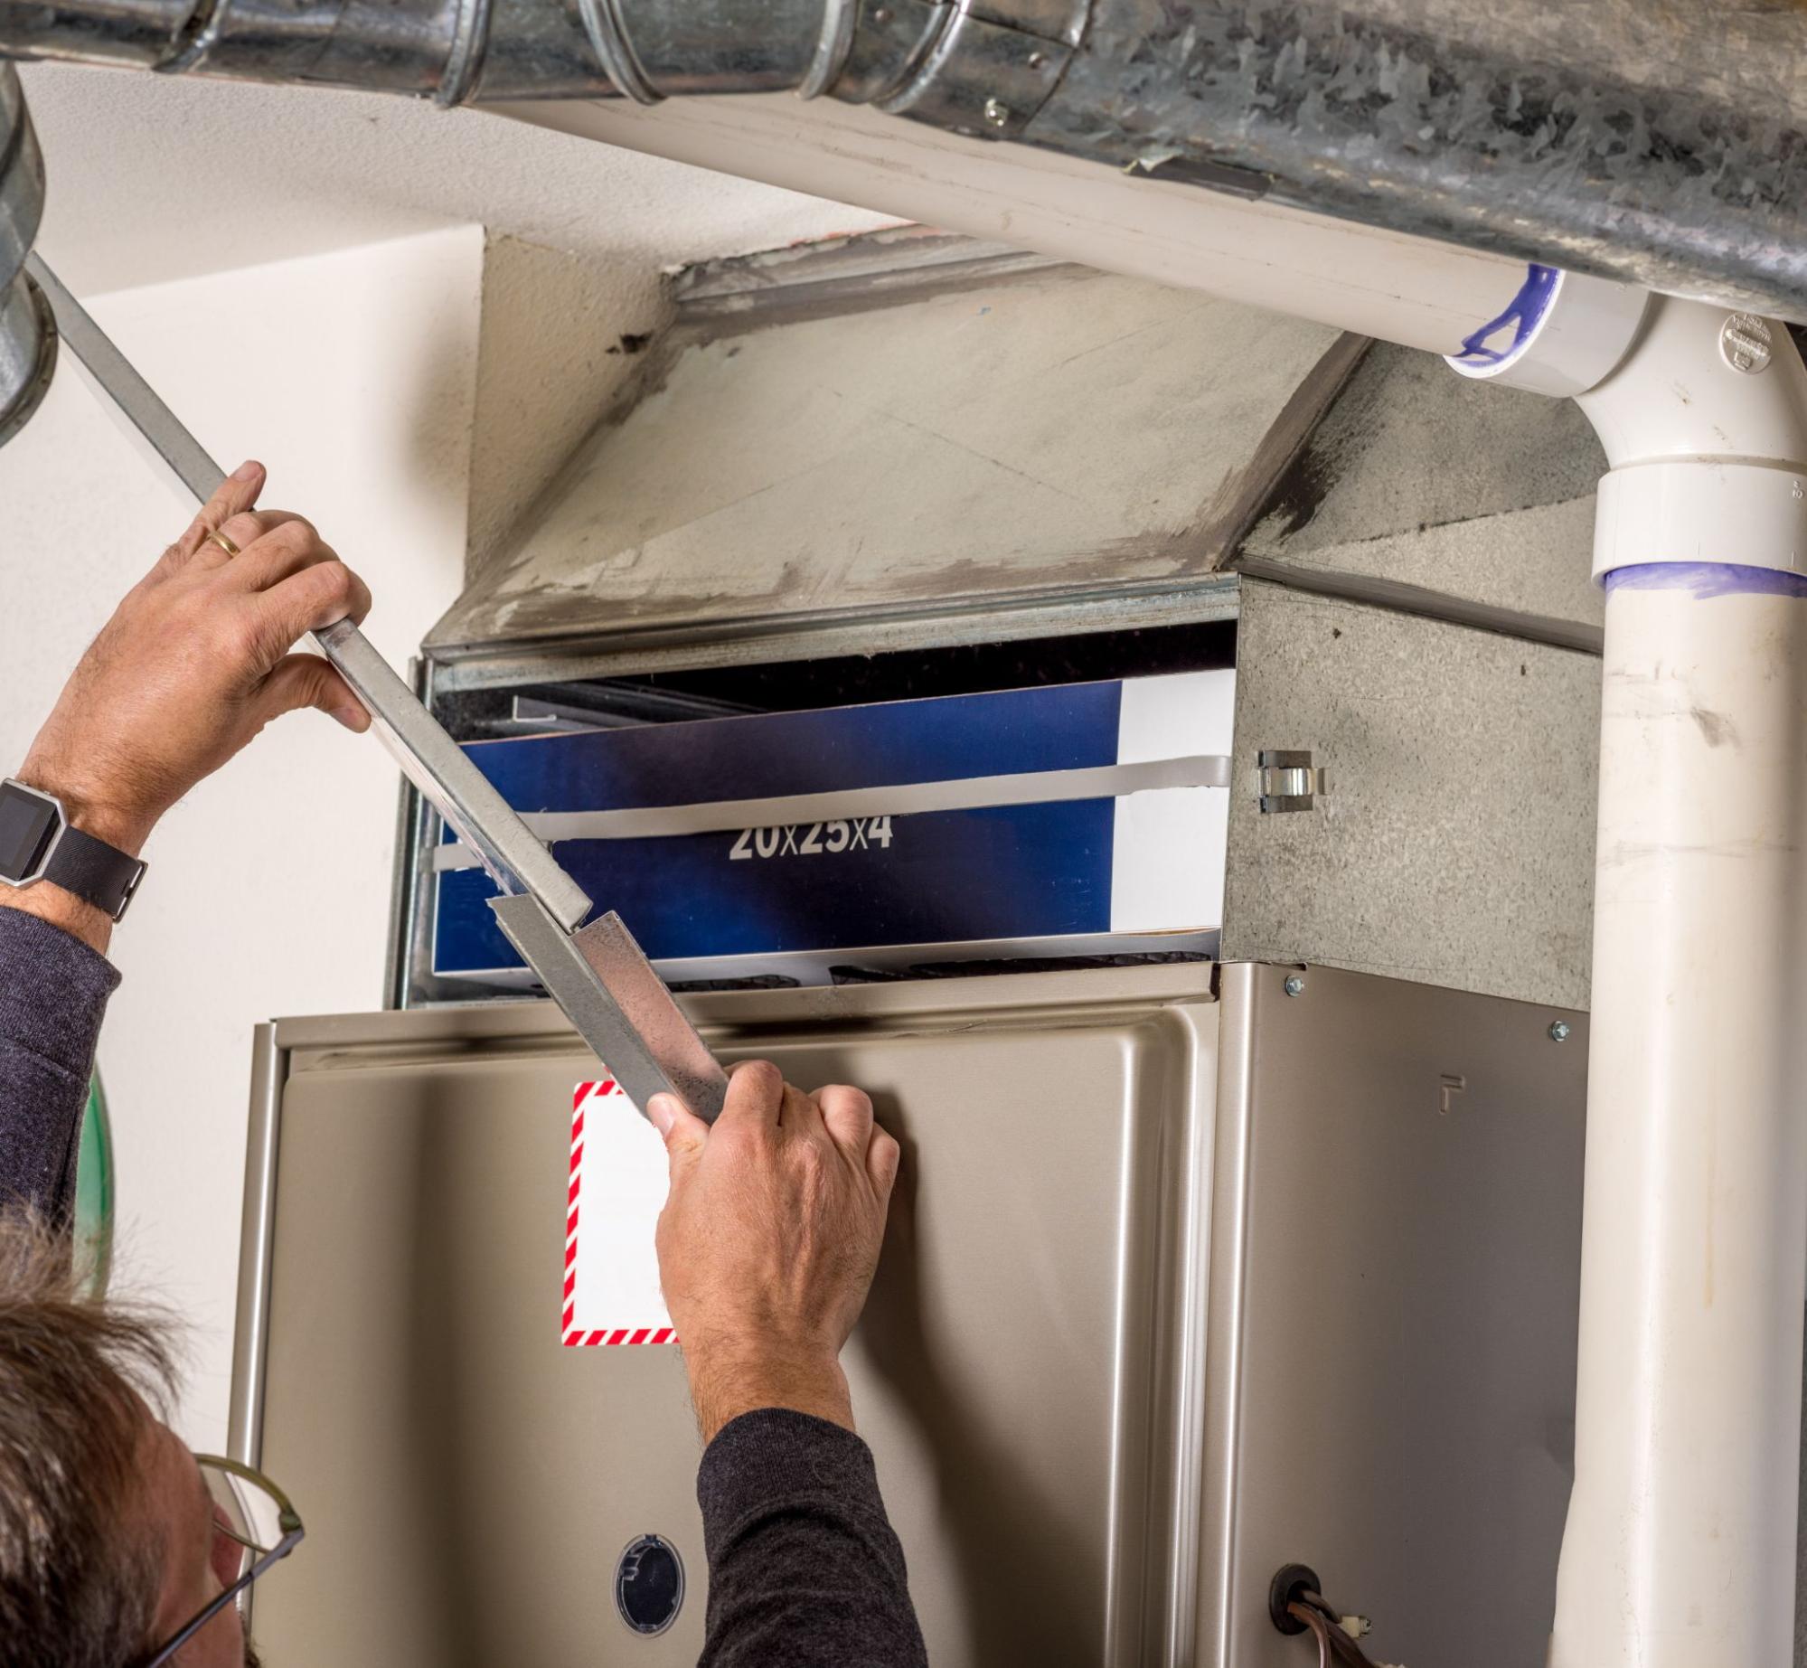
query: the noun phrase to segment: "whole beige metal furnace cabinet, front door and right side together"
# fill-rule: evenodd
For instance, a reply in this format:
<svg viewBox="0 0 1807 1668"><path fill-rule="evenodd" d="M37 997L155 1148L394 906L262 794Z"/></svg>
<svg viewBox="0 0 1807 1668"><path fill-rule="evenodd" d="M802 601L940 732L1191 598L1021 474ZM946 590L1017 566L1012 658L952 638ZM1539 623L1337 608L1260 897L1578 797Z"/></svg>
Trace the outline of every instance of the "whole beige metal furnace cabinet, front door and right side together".
<svg viewBox="0 0 1807 1668"><path fill-rule="evenodd" d="M1534 1668L1570 1482L1585 1019L1189 963L692 998L905 1144L847 1352L938 1668L1297 1668L1287 1561L1384 1661ZM1554 1043L1550 1023L1574 1028ZM676 1664L701 1643L674 1348L564 1348L546 1003L260 1043L237 1451L309 1523L273 1661ZM616 1616L640 1534L663 1635Z"/></svg>

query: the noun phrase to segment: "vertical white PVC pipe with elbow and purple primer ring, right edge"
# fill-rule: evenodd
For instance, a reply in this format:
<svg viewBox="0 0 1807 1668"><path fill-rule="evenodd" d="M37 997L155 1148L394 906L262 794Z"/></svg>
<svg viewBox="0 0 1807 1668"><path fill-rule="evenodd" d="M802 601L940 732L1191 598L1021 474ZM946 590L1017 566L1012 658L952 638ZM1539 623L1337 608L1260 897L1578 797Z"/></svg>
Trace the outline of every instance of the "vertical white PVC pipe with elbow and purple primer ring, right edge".
<svg viewBox="0 0 1807 1668"><path fill-rule="evenodd" d="M1807 372L1780 325L1767 369L1737 369L1727 318L1659 298L1579 401L1614 472L1596 540L1576 1485L1550 1668L1793 1663Z"/></svg>

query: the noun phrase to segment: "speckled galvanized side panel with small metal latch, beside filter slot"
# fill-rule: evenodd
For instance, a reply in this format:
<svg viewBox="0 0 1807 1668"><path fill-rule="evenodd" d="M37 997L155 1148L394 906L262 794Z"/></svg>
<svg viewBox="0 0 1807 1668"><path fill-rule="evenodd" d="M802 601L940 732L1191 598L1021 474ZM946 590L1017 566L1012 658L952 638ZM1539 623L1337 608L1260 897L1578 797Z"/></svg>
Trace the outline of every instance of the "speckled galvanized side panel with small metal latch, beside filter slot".
<svg viewBox="0 0 1807 1668"><path fill-rule="evenodd" d="M1243 582L1223 956L1587 1007L1599 660ZM1310 811L1256 754L1310 750Z"/></svg>

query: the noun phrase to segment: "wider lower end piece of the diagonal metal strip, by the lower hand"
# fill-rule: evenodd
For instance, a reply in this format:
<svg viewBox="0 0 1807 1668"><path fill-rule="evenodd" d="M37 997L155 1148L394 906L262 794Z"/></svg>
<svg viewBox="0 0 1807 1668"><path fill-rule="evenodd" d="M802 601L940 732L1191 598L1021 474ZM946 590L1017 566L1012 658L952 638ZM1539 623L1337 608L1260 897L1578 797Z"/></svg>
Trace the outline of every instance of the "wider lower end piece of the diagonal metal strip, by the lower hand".
<svg viewBox="0 0 1807 1668"><path fill-rule="evenodd" d="M728 1073L618 914L566 932L533 898L492 898L490 909L634 1106L645 1111L654 1095L676 1093L716 1120Z"/></svg>

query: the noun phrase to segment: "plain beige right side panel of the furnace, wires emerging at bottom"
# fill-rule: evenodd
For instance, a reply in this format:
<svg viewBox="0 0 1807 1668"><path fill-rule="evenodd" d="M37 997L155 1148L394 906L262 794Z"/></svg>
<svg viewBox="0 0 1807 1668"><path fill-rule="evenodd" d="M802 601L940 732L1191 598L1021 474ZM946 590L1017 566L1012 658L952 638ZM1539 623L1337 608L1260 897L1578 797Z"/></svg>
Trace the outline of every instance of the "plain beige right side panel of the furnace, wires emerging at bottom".
<svg viewBox="0 0 1807 1668"><path fill-rule="evenodd" d="M1308 1659L1267 1617L1297 1561L1373 1619L1375 1663L1538 1668L1587 1021L1317 967L1287 996L1288 972L1223 969L1200 1661Z"/></svg>

